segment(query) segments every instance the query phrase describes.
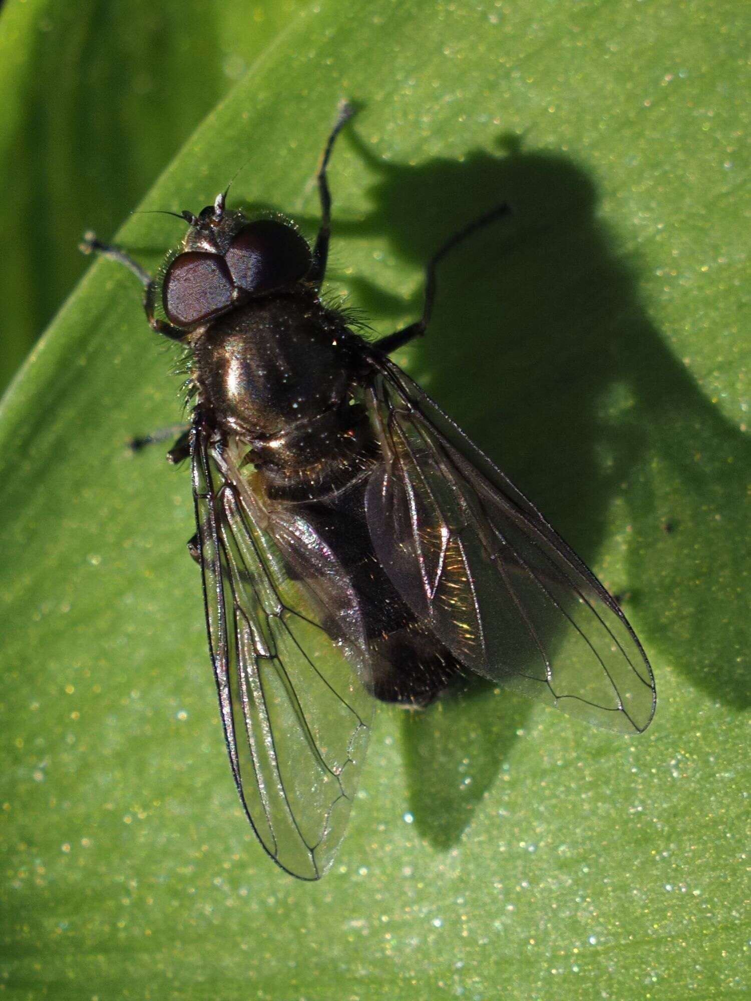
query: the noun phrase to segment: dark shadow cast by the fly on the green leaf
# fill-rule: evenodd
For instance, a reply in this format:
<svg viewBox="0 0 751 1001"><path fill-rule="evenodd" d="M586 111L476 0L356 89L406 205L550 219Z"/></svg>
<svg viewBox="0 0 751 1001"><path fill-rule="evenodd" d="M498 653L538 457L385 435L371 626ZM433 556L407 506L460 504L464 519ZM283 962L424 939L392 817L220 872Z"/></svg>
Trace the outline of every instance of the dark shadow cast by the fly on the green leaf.
<svg viewBox="0 0 751 1001"><path fill-rule="evenodd" d="M736 585L751 448L655 328L640 302L638 260L598 218L591 178L571 157L506 137L498 153L417 165L374 158L356 130L348 141L372 178L371 208L347 222L334 204L334 241L376 236L387 254L424 265L468 220L512 205L510 222L441 264L413 370L430 363L423 384L586 562L628 523L624 561L604 583L648 654L712 700L747 707ZM365 278L347 284L382 333L420 314L422 286L405 301ZM456 843L530 711L479 682L406 714L410 809L433 844ZM659 708L654 726L670 727Z"/></svg>

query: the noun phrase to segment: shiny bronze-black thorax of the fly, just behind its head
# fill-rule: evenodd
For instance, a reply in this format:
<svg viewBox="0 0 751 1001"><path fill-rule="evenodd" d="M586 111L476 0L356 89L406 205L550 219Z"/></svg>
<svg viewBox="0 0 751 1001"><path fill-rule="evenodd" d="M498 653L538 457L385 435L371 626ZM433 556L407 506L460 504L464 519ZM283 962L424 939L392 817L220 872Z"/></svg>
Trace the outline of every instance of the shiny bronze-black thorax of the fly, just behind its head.
<svg viewBox="0 0 751 1001"><path fill-rule="evenodd" d="M283 436L346 400L351 334L313 295L248 302L196 334L194 378L229 433Z"/></svg>

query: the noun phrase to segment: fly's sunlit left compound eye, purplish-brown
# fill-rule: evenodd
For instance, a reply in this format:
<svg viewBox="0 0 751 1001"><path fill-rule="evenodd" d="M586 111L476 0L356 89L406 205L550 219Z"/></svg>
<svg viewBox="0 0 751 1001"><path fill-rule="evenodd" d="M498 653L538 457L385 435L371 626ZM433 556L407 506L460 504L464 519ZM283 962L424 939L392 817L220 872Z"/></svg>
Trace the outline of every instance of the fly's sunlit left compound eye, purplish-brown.
<svg viewBox="0 0 751 1001"><path fill-rule="evenodd" d="M232 279L221 257L188 251L172 261L164 276L162 303L170 323L191 326L232 305Z"/></svg>

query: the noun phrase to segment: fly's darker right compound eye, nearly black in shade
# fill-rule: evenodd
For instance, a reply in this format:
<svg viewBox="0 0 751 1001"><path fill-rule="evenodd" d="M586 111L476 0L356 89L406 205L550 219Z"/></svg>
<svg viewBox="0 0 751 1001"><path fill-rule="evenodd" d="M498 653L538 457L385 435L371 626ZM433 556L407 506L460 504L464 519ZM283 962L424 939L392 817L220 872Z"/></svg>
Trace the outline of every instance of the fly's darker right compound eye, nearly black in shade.
<svg viewBox="0 0 751 1001"><path fill-rule="evenodd" d="M235 285L267 292L299 281L310 270L310 248L291 226L257 219L243 226L224 255Z"/></svg>

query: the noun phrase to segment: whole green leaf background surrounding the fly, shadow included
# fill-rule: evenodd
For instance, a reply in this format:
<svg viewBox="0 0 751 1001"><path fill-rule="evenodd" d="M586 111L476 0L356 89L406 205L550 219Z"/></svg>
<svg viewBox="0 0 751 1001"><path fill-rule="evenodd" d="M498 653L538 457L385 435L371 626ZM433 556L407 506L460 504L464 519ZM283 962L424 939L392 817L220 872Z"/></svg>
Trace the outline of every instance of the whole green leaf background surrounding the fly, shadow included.
<svg viewBox="0 0 751 1001"><path fill-rule="evenodd" d="M747 996L745 36L734 0L5 3L3 384L50 325L0 405L0 993ZM306 885L240 816L187 471L126 447L179 419L172 349L76 243L155 267L182 227L128 213L238 169L311 234L341 96L329 289L379 332L514 204L398 360L621 596L659 704L634 739L383 709Z"/></svg>

